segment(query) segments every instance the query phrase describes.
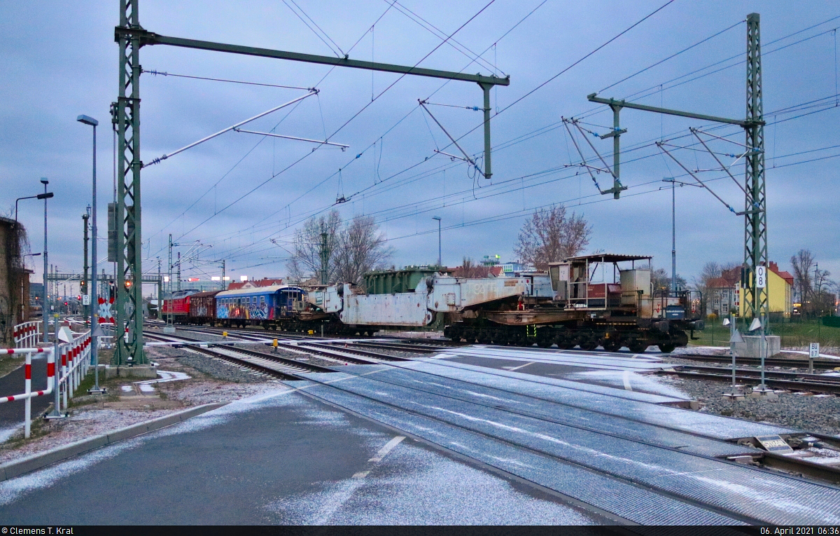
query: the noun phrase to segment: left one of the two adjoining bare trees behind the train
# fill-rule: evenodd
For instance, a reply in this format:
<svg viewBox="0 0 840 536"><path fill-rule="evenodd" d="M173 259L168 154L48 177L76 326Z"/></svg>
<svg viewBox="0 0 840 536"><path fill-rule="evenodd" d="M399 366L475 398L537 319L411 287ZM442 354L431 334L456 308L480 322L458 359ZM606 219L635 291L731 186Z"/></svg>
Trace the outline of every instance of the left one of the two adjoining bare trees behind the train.
<svg viewBox="0 0 840 536"><path fill-rule="evenodd" d="M340 243L341 216L333 210L320 218L312 217L295 231L294 251L287 268L292 281L305 281L318 277L321 271L321 234L327 233L328 281L335 281L335 253Z"/></svg>

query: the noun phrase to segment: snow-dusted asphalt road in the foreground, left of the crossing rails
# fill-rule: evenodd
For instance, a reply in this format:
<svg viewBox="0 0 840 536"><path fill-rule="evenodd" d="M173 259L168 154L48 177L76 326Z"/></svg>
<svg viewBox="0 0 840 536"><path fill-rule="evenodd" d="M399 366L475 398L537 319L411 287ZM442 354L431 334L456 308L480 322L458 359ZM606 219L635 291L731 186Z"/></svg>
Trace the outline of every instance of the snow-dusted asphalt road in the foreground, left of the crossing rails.
<svg viewBox="0 0 840 536"><path fill-rule="evenodd" d="M411 439L398 441L388 428L301 394L262 398L2 482L0 519L21 525L599 523L554 497Z"/></svg>

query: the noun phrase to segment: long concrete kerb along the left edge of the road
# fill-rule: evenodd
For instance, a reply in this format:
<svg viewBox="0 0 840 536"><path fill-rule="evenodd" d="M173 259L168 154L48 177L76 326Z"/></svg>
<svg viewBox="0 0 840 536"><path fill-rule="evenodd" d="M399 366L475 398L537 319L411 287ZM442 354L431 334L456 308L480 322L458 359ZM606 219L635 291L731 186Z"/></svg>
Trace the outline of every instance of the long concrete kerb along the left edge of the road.
<svg viewBox="0 0 840 536"><path fill-rule="evenodd" d="M181 423L186 419L201 415L226 406L229 402L215 402L213 404L203 404L202 406L191 407L182 412L172 413L145 421L143 423L132 424L125 428L113 430L108 434L97 435L96 437L81 439L71 444L66 444L63 447L56 447L55 449L40 452L38 454L27 456L21 460L14 460L3 465L0 465L0 482L8 481L16 476L24 475L30 471L39 470L47 465L52 465L60 461L67 460L73 456L85 454L94 449L100 449L109 444L122 441L123 439L134 438L141 434L148 434L160 428L171 426L172 424Z"/></svg>

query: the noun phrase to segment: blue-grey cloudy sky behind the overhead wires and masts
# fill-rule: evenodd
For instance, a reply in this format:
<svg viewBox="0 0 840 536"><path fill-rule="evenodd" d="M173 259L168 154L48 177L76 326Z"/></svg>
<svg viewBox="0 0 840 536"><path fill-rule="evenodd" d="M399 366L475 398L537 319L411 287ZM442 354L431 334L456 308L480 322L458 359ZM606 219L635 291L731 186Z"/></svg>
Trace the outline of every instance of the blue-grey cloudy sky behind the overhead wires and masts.
<svg viewBox="0 0 840 536"><path fill-rule="evenodd" d="M660 190L661 181L691 179L654 142L669 140L680 147L674 155L690 170L709 169L717 165L697 150L701 146L688 129L736 142L712 140L712 150L727 164L735 160L728 155L743 152L738 145L744 141L743 129L625 110L621 175L629 189L616 201L601 196L589 174L571 166L580 163L575 141L587 161L597 157L580 132L575 130L572 139L560 120L580 118L588 139L612 163L612 142L592 135L607 132L612 114L586 101L591 92L743 118L744 19L759 12L769 258L786 268L797 250L810 249L820 268L840 276L840 181L832 158L840 155L840 108L834 108L837 6L802 2L791 10L789 2L781 1L675 0L557 76L664 0L488 2L187 0L174 5L141 0L140 23L158 34L407 66L422 60L419 65L428 68L511 76L509 87L491 94L495 150L492 180L487 181L465 163L435 154L436 148L457 149L444 149L449 140L417 104L417 99L428 99L451 105L430 109L449 133L464 136L459 144L468 153L478 155L481 114L465 108L482 104L474 83L144 47L144 162L306 93L273 86L317 87L320 92L244 128L310 139L328 136L350 146L346 151L313 150L306 142L228 132L144 169L144 271L156 272L158 258L165 266L172 234L181 244L176 251L202 250L192 275L218 275L218 261L225 259L234 278L283 276L296 227L328 211L339 197L348 200L335 206L343 218L376 218L396 250L396 265L436 260L433 216L443 218L444 263L459 264L465 255L511 260L527 215L562 202L591 223L590 250L654 255L654 264L667 266L671 200L668 190ZM81 270L81 214L91 195L91 129L76 123L80 113L101 123L100 258L105 253L106 202L113 197L108 108L118 91L116 24L116 0L0 3L0 208L13 210L16 197L38 193L39 178L49 178L55 192L50 261L61 271ZM732 173L743 180L740 161ZM717 195L743 209L743 192L725 174L711 171L701 178L713 179L709 186ZM596 179L601 187L611 182L603 174ZM681 187L676 203L680 274L690 280L708 260L743 260L743 218L701 188ZM42 249L42 217L41 204L21 202L19 218L29 228L34 251ZM110 271L110 265L100 266ZM34 268L39 277L40 263Z"/></svg>

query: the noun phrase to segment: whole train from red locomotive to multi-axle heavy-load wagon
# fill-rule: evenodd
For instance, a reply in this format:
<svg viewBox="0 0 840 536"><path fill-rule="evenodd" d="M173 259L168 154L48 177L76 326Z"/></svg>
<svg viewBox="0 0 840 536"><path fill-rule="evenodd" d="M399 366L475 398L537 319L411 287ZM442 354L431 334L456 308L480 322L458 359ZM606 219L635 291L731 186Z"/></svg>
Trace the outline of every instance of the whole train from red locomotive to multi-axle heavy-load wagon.
<svg viewBox="0 0 840 536"><path fill-rule="evenodd" d="M181 297L179 323L329 334L443 328L453 340L664 352L702 329L700 292L654 289L643 255L584 255L548 271L454 277L439 267L375 271L363 285L265 286ZM637 265L640 263L641 265ZM184 291L181 291L184 292ZM164 309L166 313L167 309Z"/></svg>

